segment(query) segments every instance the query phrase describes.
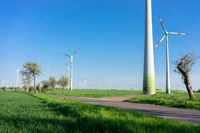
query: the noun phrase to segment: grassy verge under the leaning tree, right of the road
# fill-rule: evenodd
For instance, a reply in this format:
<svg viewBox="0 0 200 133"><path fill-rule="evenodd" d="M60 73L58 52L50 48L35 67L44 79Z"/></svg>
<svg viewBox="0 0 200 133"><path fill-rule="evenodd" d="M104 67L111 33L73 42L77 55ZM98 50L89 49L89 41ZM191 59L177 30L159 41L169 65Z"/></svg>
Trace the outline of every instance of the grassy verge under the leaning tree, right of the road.
<svg viewBox="0 0 200 133"><path fill-rule="evenodd" d="M175 91L171 95L166 95L165 93L158 93L153 96L135 95L128 102L200 110L200 93L195 93L195 96L197 100L191 101L189 100L187 92Z"/></svg>

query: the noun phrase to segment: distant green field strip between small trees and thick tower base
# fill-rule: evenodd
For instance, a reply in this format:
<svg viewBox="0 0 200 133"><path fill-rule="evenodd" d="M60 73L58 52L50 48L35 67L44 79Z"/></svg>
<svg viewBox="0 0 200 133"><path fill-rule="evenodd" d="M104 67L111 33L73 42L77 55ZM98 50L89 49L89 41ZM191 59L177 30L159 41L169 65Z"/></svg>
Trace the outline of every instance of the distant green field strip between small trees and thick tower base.
<svg viewBox="0 0 200 133"><path fill-rule="evenodd" d="M136 95L141 94L141 91L135 90L79 90L74 89L73 91L65 90L64 93L60 89L55 91L56 95L64 95L64 96L78 96L78 97L113 97L113 96L124 96L124 95ZM52 94L52 91L49 90L47 94Z"/></svg>

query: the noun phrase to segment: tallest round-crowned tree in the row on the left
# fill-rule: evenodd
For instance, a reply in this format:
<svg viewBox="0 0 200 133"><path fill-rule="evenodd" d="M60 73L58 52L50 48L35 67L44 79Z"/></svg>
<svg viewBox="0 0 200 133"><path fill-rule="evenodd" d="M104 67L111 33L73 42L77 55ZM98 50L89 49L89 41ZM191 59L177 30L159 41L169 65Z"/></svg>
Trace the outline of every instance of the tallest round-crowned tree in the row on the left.
<svg viewBox="0 0 200 133"><path fill-rule="evenodd" d="M34 92L36 92L36 78L41 74L41 68L37 63L28 62L23 66L22 76L30 76L33 78Z"/></svg>

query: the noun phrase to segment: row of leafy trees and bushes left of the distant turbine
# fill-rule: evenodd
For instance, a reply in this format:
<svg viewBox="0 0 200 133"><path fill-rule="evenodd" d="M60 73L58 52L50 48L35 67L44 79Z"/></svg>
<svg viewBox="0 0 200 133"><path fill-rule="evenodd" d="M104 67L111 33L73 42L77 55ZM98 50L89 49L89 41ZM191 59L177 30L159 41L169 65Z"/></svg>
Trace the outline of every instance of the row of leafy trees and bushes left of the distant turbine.
<svg viewBox="0 0 200 133"><path fill-rule="evenodd" d="M45 91L48 88L51 88L52 92L55 93L55 87L60 86L63 92L64 88L66 88L69 84L69 79L65 76L62 76L58 81L54 76L51 76L48 80L42 81L41 84L37 84L36 78L40 76L42 70L41 67L34 62L28 62L23 65L23 70L20 73L22 76L23 87L26 91L31 91L33 89L34 92L37 92ZM31 86L32 82L33 87Z"/></svg>

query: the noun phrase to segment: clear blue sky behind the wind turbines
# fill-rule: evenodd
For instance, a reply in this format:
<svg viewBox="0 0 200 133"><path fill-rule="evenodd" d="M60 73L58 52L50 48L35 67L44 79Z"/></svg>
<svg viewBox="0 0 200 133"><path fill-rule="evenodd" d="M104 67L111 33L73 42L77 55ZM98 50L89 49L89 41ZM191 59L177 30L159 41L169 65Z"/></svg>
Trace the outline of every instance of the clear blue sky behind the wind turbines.
<svg viewBox="0 0 200 133"><path fill-rule="evenodd" d="M187 52L200 55L199 0L152 0L154 43L163 32L189 35L170 37L171 61ZM62 53L75 56L75 87L141 89L144 54L145 0L1 0L0 81L16 81L15 69L27 61L41 65L44 80L66 74ZM200 61L199 61L200 62ZM155 49L157 88L165 88L165 43ZM184 88L173 72L172 87ZM192 72L200 84L200 63Z"/></svg>

